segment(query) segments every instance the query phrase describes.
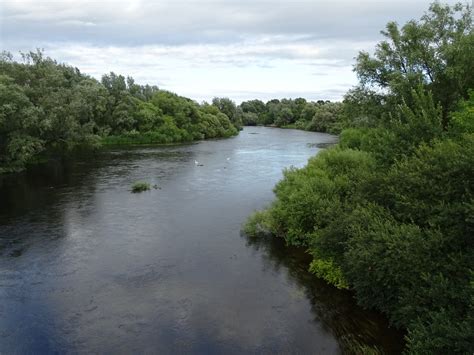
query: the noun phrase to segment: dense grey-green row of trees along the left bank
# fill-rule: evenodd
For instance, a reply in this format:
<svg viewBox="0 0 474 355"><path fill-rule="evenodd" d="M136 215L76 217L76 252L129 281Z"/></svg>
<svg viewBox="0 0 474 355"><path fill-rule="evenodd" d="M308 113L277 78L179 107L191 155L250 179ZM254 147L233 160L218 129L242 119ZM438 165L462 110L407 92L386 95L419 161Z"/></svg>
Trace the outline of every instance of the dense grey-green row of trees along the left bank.
<svg viewBox="0 0 474 355"><path fill-rule="evenodd" d="M199 105L115 73L99 82L42 52L22 57L0 56L0 173L40 154L229 137L240 128L229 99Z"/></svg>

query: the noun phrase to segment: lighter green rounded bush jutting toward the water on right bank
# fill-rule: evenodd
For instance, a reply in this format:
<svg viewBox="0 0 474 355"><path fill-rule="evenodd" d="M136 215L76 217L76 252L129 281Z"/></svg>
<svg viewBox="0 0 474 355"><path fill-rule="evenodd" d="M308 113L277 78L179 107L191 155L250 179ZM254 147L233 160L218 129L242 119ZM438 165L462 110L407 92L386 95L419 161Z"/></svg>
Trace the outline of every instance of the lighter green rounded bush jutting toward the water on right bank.
<svg viewBox="0 0 474 355"><path fill-rule="evenodd" d="M355 150L328 149L303 169L289 169L275 187L274 233L292 245L309 246L356 198L356 186L371 174L374 159Z"/></svg>

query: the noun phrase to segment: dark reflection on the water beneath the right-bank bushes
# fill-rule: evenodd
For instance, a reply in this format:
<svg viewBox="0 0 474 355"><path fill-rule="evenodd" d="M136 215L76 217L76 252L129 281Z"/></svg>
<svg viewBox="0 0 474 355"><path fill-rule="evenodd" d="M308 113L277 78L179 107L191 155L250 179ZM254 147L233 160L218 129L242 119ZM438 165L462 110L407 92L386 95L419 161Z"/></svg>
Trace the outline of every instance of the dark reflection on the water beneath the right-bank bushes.
<svg viewBox="0 0 474 355"><path fill-rule="evenodd" d="M261 253L265 267L287 272L310 300L314 320L322 321L338 338L343 352L362 353L366 346L385 354L401 354L403 334L390 328L380 314L358 307L351 292L335 290L309 273L311 257L304 249L286 246L283 239L271 236L256 238L244 232L241 236Z"/></svg>

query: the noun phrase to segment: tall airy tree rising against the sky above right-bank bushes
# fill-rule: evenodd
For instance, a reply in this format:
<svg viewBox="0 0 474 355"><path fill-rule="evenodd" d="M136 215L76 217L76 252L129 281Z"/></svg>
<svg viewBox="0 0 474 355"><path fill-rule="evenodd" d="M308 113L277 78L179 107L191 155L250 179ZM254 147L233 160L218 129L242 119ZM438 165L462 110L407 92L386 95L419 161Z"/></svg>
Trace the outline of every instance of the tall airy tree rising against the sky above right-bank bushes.
<svg viewBox="0 0 474 355"><path fill-rule="evenodd" d="M435 2L420 21L401 28L389 22L382 34L387 39L377 45L374 56L361 52L357 58L354 70L362 85L408 99L411 88L422 83L441 103L446 128L448 112L474 85L470 7Z"/></svg>

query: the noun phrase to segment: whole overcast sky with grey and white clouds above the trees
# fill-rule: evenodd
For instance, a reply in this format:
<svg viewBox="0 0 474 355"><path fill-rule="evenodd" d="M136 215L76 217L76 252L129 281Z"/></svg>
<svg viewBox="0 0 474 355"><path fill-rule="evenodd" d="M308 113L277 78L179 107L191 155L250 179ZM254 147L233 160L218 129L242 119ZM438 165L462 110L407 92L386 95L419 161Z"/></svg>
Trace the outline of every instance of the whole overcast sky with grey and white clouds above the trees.
<svg viewBox="0 0 474 355"><path fill-rule="evenodd" d="M430 2L2 0L0 47L43 48L96 78L114 71L199 102L338 100L356 83L358 51Z"/></svg>

